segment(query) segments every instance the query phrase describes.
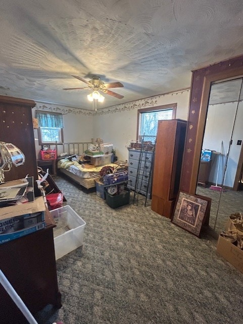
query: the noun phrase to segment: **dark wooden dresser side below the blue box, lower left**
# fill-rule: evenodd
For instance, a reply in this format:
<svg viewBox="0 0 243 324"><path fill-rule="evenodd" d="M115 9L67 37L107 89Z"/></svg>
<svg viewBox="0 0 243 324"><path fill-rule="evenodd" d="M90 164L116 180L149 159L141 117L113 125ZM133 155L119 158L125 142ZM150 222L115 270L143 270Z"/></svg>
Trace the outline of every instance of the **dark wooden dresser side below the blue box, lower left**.
<svg viewBox="0 0 243 324"><path fill-rule="evenodd" d="M0 267L34 315L48 304L60 308L53 227L0 245ZM0 285L1 323L25 323L25 317Z"/></svg>

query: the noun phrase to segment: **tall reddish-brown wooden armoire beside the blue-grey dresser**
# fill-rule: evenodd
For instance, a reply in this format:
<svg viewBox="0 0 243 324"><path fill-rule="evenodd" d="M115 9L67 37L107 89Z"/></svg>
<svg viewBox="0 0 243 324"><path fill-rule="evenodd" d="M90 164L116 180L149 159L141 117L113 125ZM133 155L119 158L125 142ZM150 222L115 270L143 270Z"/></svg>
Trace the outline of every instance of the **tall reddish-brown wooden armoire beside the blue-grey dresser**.
<svg viewBox="0 0 243 324"><path fill-rule="evenodd" d="M158 121L151 208L168 218L179 191L185 133L185 120Z"/></svg>

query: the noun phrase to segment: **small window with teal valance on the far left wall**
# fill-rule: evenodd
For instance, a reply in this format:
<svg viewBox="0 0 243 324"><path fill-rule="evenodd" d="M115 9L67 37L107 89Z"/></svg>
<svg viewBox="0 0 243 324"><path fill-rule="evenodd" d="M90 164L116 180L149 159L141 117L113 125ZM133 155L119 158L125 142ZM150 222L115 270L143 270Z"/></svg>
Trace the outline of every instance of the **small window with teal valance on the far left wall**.
<svg viewBox="0 0 243 324"><path fill-rule="evenodd" d="M63 142L63 115L58 112L36 110L38 119L39 144L54 144Z"/></svg>

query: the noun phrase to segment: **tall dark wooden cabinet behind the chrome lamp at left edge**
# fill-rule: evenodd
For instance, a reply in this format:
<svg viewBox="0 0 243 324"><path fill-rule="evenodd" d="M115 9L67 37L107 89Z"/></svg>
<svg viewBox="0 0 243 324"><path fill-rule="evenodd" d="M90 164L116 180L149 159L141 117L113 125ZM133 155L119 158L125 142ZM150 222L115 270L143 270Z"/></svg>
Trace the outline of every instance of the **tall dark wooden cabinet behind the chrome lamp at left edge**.
<svg viewBox="0 0 243 324"><path fill-rule="evenodd" d="M5 172L5 181L24 178L28 174L34 177L37 193L37 163L31 113L34 106L32 100L0 96L0 141L13 143L25 155L22 166L13 166L9 172Z"/></svg>

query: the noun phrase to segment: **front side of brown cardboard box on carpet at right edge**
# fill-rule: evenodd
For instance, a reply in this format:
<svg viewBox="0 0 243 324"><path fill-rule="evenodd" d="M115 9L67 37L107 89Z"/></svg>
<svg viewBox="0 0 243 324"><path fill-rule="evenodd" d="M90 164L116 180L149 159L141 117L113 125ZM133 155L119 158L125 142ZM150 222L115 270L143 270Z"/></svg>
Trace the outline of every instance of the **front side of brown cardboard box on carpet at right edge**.
<svg viewBox="0 0 243 324"><path fill-rule="evenodd" d="M236 269L243 272L243 250L237 248L229 240L219 235L217 252Z"/></svg>

